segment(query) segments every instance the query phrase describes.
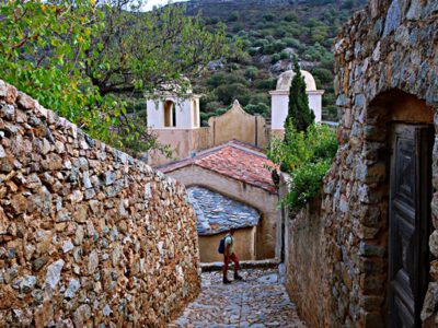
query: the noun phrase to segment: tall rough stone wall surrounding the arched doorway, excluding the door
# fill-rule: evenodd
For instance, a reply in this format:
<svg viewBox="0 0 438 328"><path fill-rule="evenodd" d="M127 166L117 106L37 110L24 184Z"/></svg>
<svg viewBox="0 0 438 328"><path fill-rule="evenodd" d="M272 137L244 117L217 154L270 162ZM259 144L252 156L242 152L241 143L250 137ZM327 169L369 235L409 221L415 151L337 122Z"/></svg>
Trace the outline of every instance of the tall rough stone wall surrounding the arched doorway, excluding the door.
<svg viewBox="0 0 438 328"><path fill-rule="evenodd" d="M322 203L311 211L316 214L301 212L289 227L289 292L313 327L385 325L388 128L399 119L426 122L431 119L429 113L438 109L437 13L435 0L371 0L335 42L336 103L343 114L339 150L324 180ZM405 99L422 104L411 106L410 114L400 118L403 110L397 113L395 107ZM437 142L433 157L437 188ZM434 194L436 229L437 209L438 194ZM312 239L308 230L320 237ZM437 241L438 232L434 232L430 250L435 258ZM307 248L303 243L308 243ZM303 269L308 258L311 262L320 259L320 272L311 280ZM433 327L438 323L434 314L438 304L437 267L434 260L422 314L424 323ZM314 270L312 265L310 269ZM291 279L293 274L298 277ZM315 290L320 291L319 302L300 296L313 296Z"/></svg>

